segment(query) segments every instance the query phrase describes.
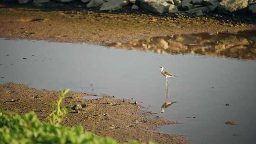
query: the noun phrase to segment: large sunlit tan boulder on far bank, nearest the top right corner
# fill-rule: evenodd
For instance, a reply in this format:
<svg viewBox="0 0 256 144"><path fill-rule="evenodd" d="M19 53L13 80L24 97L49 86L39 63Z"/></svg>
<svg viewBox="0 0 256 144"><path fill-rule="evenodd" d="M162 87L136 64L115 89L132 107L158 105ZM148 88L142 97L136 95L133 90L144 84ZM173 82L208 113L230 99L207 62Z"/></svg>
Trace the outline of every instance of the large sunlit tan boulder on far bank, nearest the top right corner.
<svg viewBox="0 0 256 144"><path fill-rule="evenodd" d="M222 0L218 11L224 14L239 14L247 11L248 0Z"/></svg>

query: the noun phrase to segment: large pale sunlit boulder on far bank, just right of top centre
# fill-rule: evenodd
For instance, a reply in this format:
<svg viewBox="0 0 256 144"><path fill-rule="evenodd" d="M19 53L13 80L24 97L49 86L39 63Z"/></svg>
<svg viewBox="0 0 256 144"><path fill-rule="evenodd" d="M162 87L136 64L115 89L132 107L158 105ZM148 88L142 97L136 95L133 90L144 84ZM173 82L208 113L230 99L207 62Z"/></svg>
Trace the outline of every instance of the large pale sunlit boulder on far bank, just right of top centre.
<svg viewBox="0 0 256 144"><path fill-rule="evenodd" d="M137 0L139 6L155 13L168 12L169 4L165 0Z"/></svg>

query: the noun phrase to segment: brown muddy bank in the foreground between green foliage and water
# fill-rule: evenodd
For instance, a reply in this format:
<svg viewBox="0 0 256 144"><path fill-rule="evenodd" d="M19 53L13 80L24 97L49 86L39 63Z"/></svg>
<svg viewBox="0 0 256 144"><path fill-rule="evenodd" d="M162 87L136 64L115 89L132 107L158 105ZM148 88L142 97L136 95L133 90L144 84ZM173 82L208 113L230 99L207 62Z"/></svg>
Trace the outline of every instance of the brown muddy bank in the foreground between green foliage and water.
<svg viewBox="0 0 256 144"><path fill-rule="evenodd" d="M34 111L39 119L44 121L59 93L59 91L37 90L23 84L0 84L0 107L4 108L6 113L12 114ZM137 139L140 142L151 140L165 144L188 144L180 135L153 131L156 127L178 124L178 122L142 111L143 106L135 104L134 100L114 99L110 96L101 99L81 99L82 96L87 95L91 94L78 92L67 94L63 102L64 107L81 104L83 108L80 111L71 110L62 125L81 125L86 131L93 131L100 136L110 136L119 142Z"/></svg>

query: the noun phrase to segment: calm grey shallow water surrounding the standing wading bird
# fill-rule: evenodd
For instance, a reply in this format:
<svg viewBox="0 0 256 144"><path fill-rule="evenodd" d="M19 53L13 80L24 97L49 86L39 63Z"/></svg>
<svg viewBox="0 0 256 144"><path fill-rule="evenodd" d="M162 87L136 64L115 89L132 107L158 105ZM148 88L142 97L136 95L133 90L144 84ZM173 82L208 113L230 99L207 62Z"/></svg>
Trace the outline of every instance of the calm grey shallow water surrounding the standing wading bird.
<svg viewBox="0 0 256 144"><path fill-rule="evenodd" d="M165 113L160 113L165 102L161 65L178 76L169 82L170 101L177 103ZM0 39L0 83L133 98L147 110L182 123L159 131L189 135L193 144L255 143L255 76L255 61Z"/></svg>

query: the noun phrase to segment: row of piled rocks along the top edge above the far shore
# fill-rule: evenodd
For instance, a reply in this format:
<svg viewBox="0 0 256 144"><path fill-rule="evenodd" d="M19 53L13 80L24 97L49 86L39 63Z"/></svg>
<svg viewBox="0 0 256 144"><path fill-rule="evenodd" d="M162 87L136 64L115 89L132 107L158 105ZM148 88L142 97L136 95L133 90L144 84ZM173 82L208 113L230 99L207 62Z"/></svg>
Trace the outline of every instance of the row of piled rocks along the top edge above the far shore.
<svg viewBox="0 0 256 144"><path fill-rule="evenodd" d="M13 2L14 0L4 0ZM75 0L56 0L70 3ZM256 0L81 0L87 8L100 11L115 11L128 7L128 9L147 9L150 12L187 13L202 16L205 13L219 12L220 14L237 15L242 13L256 14ZM18 0L25 4L31 0ZM41 7L50 0L33 0L35 6Z"/></svg>

